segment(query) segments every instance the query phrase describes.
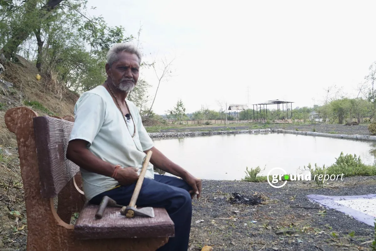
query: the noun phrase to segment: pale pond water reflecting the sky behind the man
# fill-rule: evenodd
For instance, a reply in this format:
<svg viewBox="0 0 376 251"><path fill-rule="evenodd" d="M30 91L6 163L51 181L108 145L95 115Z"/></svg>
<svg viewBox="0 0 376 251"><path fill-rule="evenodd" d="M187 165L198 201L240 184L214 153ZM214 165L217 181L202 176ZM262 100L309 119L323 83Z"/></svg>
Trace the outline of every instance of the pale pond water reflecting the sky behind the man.
<svg viewBox="0 0 376 251"><path fill-rule="evenodd" d="M376 142L282 133L221 134L200 137L153 138L155 147L192 175L207 180L241 180L246 167L268 171L281 167L302 172L335 162L341 152L356 154L365 164L376 160ZM276 170L275 173L280 174Z"/></svg>

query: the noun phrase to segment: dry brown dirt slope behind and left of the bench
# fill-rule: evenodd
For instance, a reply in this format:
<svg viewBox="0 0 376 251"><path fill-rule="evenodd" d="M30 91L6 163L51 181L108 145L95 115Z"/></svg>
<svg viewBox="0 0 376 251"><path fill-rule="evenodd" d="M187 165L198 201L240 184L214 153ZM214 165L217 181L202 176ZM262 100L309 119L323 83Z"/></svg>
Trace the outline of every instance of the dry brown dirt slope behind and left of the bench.
<svg viewBox="0 0 376 251"><path fill-rule="evenodd" d="M59 89L53 79L41 74L25 59L4 64L0 75L13 87L0 82L0 250L26 250L26 209L15 135L5 125L9 108L29 106L38 115L73 115L78 96Z"/></svg>

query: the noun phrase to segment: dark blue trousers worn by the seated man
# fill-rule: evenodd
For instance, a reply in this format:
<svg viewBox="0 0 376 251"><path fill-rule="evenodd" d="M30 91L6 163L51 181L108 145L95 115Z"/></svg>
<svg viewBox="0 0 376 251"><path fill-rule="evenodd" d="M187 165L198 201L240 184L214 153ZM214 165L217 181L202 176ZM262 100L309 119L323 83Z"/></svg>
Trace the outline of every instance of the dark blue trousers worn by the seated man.
<svg viewBox="0 0 376 251"><path fill-rule="evenodd" d="M100 204L107 195L119 205L128 205L136 183L121 186L103 192L90 200L92 204ZM165 175L155 175L154 180L144 179L136 205L137 207L163 207L175 225L175 237L158 251L186 251L191 231L192 201L188 191L192 190L185 181Z"/></svg>

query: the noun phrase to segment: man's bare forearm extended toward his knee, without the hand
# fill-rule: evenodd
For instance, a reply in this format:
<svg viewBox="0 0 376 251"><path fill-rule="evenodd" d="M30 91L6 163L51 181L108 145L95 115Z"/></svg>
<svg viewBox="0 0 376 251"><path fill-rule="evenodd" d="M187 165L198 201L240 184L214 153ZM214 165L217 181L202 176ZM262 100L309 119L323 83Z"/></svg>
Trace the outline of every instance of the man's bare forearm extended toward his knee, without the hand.
<svg viewBox="0 0 376 251"><path fill-rule="evenodd" d="M158 167L159 169L165 172L171 173L172 175L181 177L183 179L188 174L186 170L184 170L179 165L173 163L155 147L153 147L150 150L153 151L152 157L150 158L150 163L152 163L155 167ZM145 151L145 153L147 153L150 150Z"/></svg>

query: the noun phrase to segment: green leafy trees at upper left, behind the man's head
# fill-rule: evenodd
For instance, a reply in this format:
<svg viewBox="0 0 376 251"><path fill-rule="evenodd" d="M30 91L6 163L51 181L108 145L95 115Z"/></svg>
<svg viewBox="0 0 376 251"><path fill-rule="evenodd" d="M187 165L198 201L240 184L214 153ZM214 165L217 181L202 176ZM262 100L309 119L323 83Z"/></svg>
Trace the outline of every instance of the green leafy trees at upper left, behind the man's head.
<svg viewBox="0 0 376 251"><path fill-rule="evenodd" d="M108 49L114 43L132 41L133 36L124 36L121 26L109 27L103 17L88 15L87 1L63 1L53 8L50 2L0 1L5 11L0 14L0 48L9 52L5 53L8 58L18 53L39 64L47 89L60 97L63 89L80 94L102 84ZM140 99L145 97L146 85L140 82L142 88L135 88L131 98L143 107Z"/></svg>

